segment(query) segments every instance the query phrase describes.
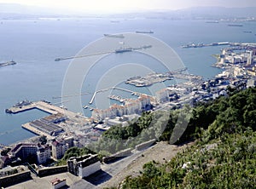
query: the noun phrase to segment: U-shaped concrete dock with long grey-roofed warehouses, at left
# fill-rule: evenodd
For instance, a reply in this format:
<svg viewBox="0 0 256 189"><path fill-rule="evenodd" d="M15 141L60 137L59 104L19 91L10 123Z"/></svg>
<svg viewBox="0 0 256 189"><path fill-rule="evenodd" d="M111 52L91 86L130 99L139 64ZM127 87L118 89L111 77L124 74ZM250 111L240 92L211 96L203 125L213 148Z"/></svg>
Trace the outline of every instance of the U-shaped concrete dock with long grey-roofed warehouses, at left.
<svg viewBox="0 0 256 189"><path fill-rule="evenodd" d="M49 139L54 139L57 135L70 132L75 129L65 127L67 124L62 124L62 122L66 120L73 125L74 123L79 122L84 122L85 124L87 122L90 123L90 118L68 111L65 108L61 108L61 106L54 106L45 100L35 102L23 100L15 106L6 109L6 112L9 114L18 114L20 112L31 111L32 109L47 112L49 115L38 118L29 123L23 123L21 127L36 135L46 135Z"/></svg>

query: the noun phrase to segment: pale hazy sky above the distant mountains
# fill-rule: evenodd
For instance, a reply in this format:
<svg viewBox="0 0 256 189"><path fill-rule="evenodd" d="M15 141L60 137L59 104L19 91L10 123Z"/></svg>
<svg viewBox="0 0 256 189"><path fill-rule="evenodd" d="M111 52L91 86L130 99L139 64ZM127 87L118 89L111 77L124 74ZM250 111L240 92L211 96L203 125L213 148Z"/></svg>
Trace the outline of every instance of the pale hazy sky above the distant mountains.
<svg viewBox="0 0 256 189"><path fill-rule="evenodd" d="M140 9L183 9L198 6L256 7L256 0L0 0L54 9L124 12Z"/></svg>

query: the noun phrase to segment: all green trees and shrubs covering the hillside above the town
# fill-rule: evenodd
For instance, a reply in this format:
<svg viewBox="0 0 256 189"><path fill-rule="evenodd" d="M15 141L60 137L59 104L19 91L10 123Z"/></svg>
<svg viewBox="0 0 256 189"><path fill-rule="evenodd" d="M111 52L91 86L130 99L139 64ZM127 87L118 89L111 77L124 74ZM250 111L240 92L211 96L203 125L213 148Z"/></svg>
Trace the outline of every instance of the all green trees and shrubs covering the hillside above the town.
<svg viewBox="0 0 256 189"><path fill-rule="evenodd" d="M150 162L141 175L127 177L121 188L253 188L256 184L256 89L229 89L229 97L198 103L181 110L144 112L127 127L109 129L89 149L108 152L135 146L143 140L170 140L176 144L197 140L195 146L170 162ZM187 112L191 112L188 114ZM181 118L180 118L181 117ZM188 123L183 128L183 123ZM174 140L173 140L174 141ZM91 152L71 148L60 163Z"/></svg>

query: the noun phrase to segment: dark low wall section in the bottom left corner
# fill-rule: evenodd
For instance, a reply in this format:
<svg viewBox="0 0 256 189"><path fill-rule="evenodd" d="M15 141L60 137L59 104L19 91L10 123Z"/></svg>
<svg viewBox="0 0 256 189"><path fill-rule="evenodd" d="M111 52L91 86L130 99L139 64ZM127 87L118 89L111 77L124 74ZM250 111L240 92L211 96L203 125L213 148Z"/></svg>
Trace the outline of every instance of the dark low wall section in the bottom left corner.
<svg viewBox="0 0 256 189"><path fill-rule="evenodd" d="M31 173L29 170L15 175L5 176L0 178L0 187L12 186L29 179L31 179Z"/></svg>

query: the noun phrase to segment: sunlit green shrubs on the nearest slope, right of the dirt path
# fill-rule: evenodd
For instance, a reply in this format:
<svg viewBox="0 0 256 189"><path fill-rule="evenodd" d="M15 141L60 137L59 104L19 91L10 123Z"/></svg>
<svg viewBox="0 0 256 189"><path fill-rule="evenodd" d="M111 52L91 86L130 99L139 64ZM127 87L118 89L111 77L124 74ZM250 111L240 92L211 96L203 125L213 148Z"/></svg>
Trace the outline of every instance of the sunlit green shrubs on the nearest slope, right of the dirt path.
<svg viewBox="0 0 256 189"><path fill-rule="evenodd" d="M255 167L256 133L248 129L193 146L168 163L146 163L121 188L254 188Z"/></svg>

